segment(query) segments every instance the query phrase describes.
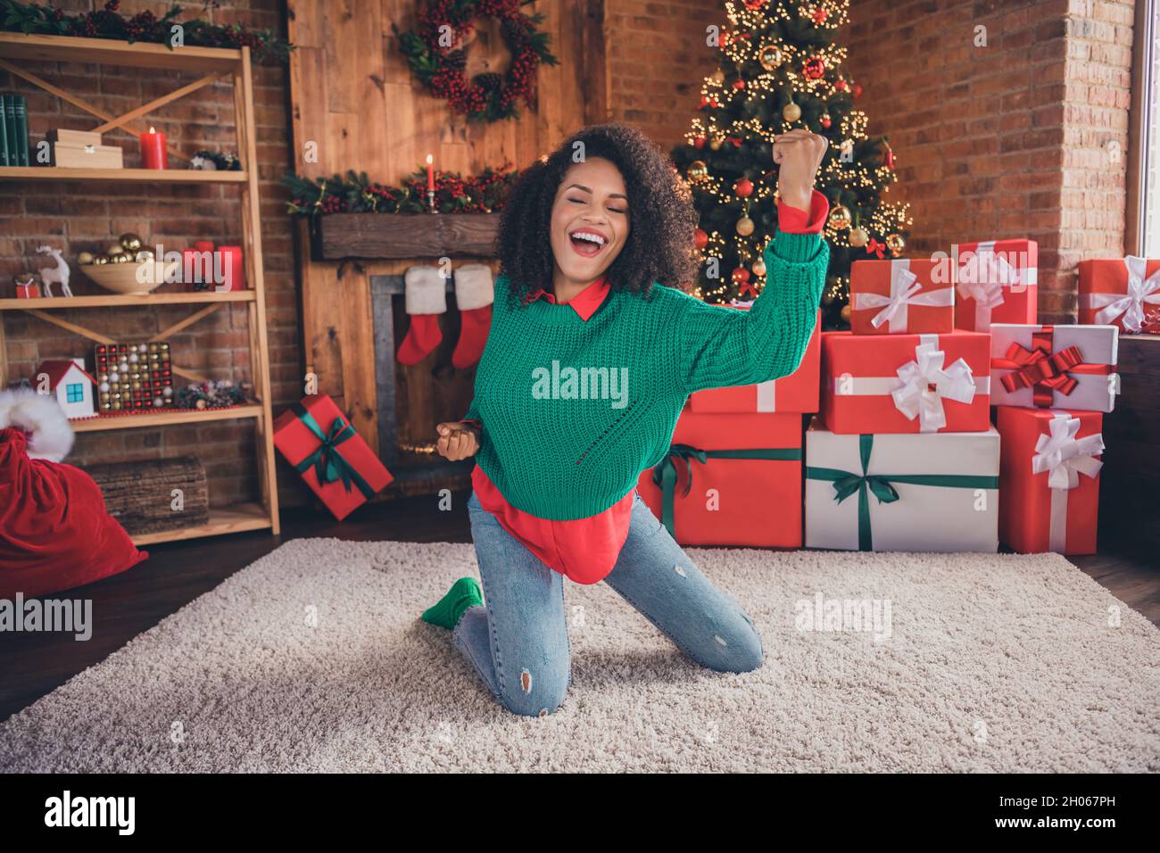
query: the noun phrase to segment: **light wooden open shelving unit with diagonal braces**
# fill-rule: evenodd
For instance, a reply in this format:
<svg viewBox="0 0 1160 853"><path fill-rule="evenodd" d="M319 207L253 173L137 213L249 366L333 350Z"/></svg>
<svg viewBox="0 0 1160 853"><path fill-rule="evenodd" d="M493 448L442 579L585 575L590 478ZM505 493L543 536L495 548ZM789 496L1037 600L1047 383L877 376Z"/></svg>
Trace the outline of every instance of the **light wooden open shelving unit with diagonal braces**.
<svg viewBox="0 0 1160 853"><path fill-rule="evenodd" d="M12 60L15 60L14 64ZM22 66L29 60L104 63L139 68L181 70L202 72L205 77L194 84L138 107L121 117L114 117L87 103L51 82L43 80ZM186 319L154 335L155 340L196 323L229 303L242 303L249 313L249 356L252 382L258 399L247 405L216 410L165 410L147 414L125 414L72 421L78 433L101 429L147 429L186 424L204 424L218 420L251 419L254 421L258 444L258 470L261 500L226 507L211 507L209 521L204 525L164 533L133 536L138 545L174 540L216 536L241 530L280 530L277 482L274 460L274 415L270 411L269 347L266 332L266 291L262 279L262 234L259 216L256 131L254 129L254 88L251 74L248 48L227 50L218 48L168 49L159 44L129 44L104 38L74 38L66 36L26 36L17 32L0 32L0 67L23 80L57 95L61 100L80 107L101 120L102 130L124 128L139 131L137 120L169 103L187 96L217 80L231 80L234 94L234 126L238 136L238 152L244 172L200 172L195 169L94 169L60 167L0 167L0 181L102 181L145 183L233 183L241 189L242 255L246 263L248 289L232 292L161 292L133 296L78 296L58 298L17 299L0 298L0 388L8 384L8 366L5 347L3 317L8 311L24 311L46 323L52 323L90 340L111 344L113 339L100 332L59 319L53 312L66 309L140 309L147 305L197 306L198 310ZM181 156L171 149L171 152ZM119 341L116 341L119 342ZM202 377L174 366L174 374L187 378Z"/></svg>

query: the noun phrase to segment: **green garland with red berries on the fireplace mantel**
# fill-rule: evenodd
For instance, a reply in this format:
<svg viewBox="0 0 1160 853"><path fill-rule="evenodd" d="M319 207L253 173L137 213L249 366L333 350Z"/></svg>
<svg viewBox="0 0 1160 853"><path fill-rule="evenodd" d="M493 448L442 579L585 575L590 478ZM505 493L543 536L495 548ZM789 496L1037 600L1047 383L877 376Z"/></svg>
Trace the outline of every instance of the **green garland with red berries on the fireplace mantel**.
<svg viewBox="0 0 1160 853"><path fill-rule="evenodd" d="M491 214L502 210L519 173L512 164L499 169L487 167L478 175L463 178L458 172L435 172L435 207L441 214ZM425 214L427 212L427 172L416 169L401 187L371 181L365 172L350 169L331 178L302 178L288 174L282 182L290 189L288 214Z"/></svg>

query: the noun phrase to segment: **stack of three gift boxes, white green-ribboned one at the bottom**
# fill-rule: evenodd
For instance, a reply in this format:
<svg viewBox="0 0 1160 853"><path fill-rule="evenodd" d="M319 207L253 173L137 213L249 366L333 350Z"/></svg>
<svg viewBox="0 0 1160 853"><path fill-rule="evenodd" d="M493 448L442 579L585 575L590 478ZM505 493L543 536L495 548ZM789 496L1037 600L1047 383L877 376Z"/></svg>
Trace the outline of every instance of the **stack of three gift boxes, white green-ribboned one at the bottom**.
<svg viewBox="0 0 1160 853"><path fill-rule="evenodd" d="M954 267L851 265L850 331L822 334L821 413L805 435L807 547L998 550L991 335L956 328Z"/></svg>

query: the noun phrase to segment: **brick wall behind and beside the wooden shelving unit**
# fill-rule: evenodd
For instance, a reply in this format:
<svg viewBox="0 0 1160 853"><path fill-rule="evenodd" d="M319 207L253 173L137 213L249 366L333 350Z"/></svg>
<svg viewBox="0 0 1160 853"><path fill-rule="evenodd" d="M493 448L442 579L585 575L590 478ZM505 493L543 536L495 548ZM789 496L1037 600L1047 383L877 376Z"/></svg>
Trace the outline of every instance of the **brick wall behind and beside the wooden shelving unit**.
<svg viewBox="0 0 1160 853"><path fill-rule="evenodd" d="M103 3L57 3L68 10L85 10ZM126 15L143 9L161 14L168 2L123 2ZM208 13L219 22L240 21L248 26L284 32L280 0L229 2ZM200 3L186 7L195 16ZM74 64L29 64L29 70L94 106L121 115L171 92L200 74L171 75L142 68ZM29 108L30 142L43 138L50 128L92 129L97 122L87 114L23 80L0 72L0 87L24 94ZM300 391L299 331L293 283L290 222L285 216L285 193L280 186L288 171L287 71L284 66L254 66L258 158L261 178L261 227L267 288L270 373L275 411L298 399ZM216 84L175 101L147 121L162 130L179 150L235 150L233 136L233 88ZM110 132L106 144L122 146L125 165L139 165L136 137ZM171 166L183 166L171 158ZM103 292L78 270L75 256L99 251L125 231L139 233L147 244L167 248L210 239L218 245L240 244L240 190L226 186L157 186L106 183L0 182L0 295L13 296L12 276L45 266L36 247L50 244L64 250L73 269L75 295ZM177 289L179 285L162 285ZM143 340L191 312L189 308L101 309L55 312L56 316L101 331L117 340ZM84 355L92 366L93 341L20 312L6 312L9 377L31 377L44 359ZM169 339L174 361L212 378L249 381L247 311L225 305L215 315ZM177 377L181 382L181 378ZM206 468L213 505L258 497L253 421L223 421L204 426L173 426L164 429L116 429L81 433L70 462L165 457L196 454ZM287 480L284 476L280 479ZM302 490L284 482L283 500L300 503Z"/></svg>

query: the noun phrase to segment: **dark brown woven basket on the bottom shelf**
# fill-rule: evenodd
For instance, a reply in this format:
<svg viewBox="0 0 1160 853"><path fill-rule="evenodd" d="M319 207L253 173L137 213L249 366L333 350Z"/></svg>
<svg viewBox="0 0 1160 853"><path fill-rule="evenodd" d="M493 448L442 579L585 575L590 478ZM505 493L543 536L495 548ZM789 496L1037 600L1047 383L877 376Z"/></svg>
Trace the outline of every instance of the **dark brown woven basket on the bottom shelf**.
<svg viewBox="0 0 1160 853"><path fill-rule="evenodd" d="M176 530L209 521L205 469L196 456L85 465L104 494L104 508L130 535ZM173 490L184 506L173 508Z"/></svg>

